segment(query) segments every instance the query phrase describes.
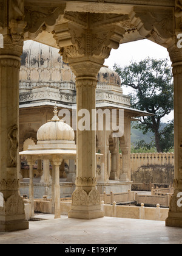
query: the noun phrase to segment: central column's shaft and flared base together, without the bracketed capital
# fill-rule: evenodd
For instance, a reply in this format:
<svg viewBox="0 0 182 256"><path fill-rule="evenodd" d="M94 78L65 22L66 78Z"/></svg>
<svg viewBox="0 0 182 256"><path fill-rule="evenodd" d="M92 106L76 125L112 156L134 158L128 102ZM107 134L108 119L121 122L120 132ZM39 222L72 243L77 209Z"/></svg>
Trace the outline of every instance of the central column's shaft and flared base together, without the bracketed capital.
<svg viewBox="0 0 182 256"><path fill-rule="evenodd" d="M90 65L90 68L93 66ZM92 113L92 109L95 109L95 89L96 77L82 77L76 80L77 113L82 109ZM92 115L87 118L92 124ZM78 117L78 122L80 119ZM76 190L72 195L70 218L90 219L104 216L99 192L96 190L96 133L91 129L91 126L90 130L77 129Z"/></svg>

